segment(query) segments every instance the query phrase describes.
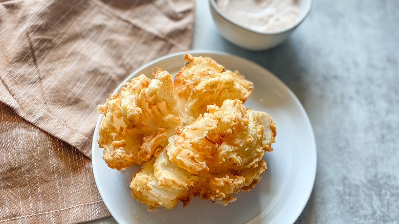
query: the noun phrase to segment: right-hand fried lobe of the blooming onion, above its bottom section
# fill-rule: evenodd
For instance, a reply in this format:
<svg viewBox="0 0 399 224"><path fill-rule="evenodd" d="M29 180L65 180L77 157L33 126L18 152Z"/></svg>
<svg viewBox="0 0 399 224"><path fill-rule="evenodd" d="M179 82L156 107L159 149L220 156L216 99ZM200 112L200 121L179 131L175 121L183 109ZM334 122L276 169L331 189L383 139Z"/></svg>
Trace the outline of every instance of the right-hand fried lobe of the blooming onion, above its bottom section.
<svg viewBox="0 0 399 224"><path fill-rule="evenodd" d="M239 100L225 100L219 108L208 105L209 113L198 117L169 141L170 161L190 173L219 173L228 169L240 170L255 166L271 150L275 132L263 131L262 115L247 109ZM270 125L270 124L269 124ZM274 124L271 124L272 126ZM274 128L275 131L275 128Z"/></svg>

